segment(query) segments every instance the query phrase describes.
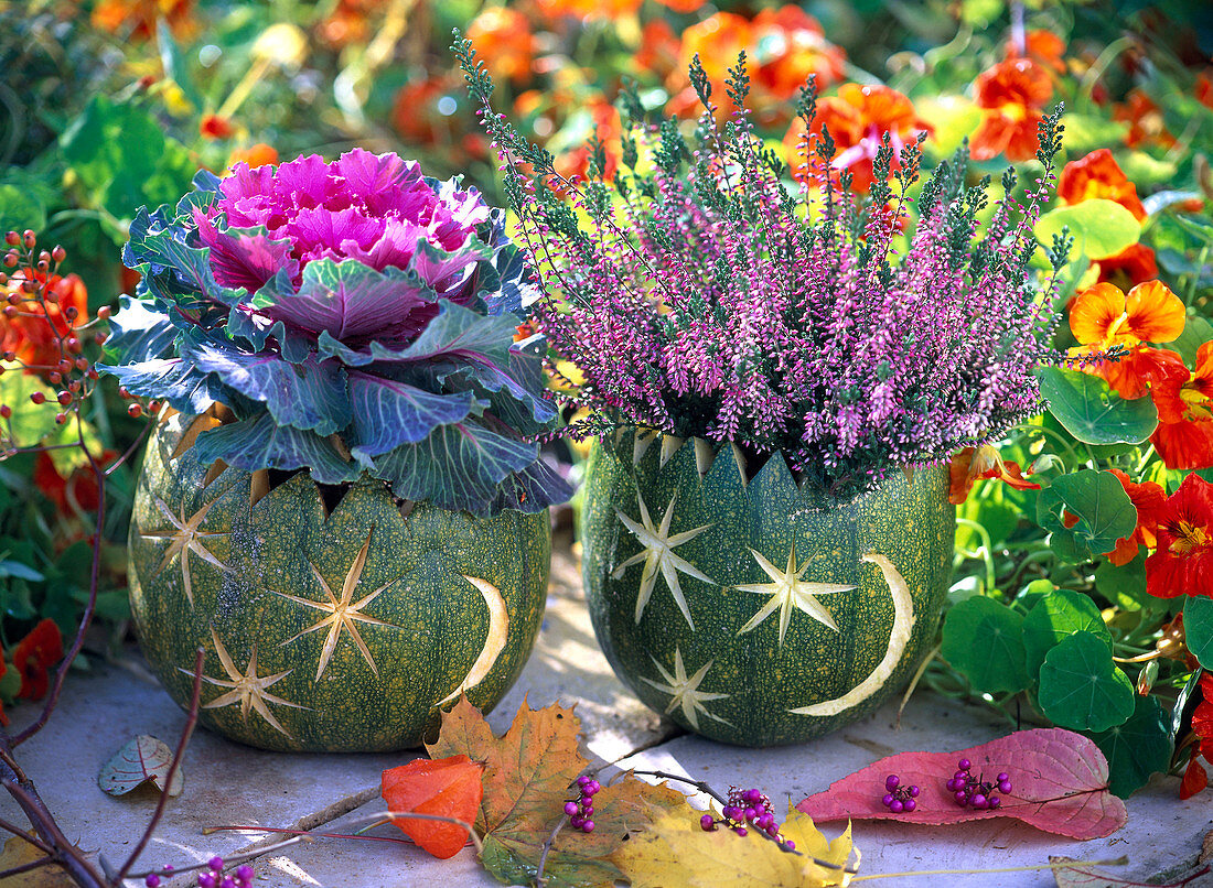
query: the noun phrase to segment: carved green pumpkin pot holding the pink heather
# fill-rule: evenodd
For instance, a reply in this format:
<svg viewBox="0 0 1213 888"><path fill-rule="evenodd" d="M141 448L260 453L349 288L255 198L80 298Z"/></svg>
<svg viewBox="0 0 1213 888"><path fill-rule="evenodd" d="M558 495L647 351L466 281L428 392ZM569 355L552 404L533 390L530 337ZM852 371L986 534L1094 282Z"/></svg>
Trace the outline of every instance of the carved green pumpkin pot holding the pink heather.
<svg viewBox="0 0 1213 888"><path fill-rule="evenodd" d="M594 443L581 514L590 615L620 678L682 727L744 746L802 743L872 712L933 642L956 533L947 466L912 483L895 472L839 505L798 489L782 456L748 482L741 463L697 440Z"/></svg>

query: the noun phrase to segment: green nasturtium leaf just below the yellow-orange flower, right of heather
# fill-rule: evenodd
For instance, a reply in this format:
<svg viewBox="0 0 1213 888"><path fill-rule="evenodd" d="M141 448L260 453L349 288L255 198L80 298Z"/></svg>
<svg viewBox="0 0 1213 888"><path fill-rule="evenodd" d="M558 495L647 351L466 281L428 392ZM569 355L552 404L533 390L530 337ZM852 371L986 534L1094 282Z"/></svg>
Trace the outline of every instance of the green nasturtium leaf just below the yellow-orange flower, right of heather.
<svg viewBox="0 0 1213 888"><path fill-rule="evenodd" d="M1061 367L1036 371L1049 413L1083 443L1141 443L1158 426L1154 400L1126 400L1090 373Z"/></svg>

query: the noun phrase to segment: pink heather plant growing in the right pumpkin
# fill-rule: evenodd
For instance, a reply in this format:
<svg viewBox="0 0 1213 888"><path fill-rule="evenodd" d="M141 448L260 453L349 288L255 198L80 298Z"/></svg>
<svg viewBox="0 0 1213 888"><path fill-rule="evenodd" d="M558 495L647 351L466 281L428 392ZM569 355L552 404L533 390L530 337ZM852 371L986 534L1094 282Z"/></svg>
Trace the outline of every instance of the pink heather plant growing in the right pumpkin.
<svg viewBox="0 0 1213 888"><path fill-rule="evenodd" d="M562 178L489 110L492 84L469 44L455 50L503 161L517 240L542 273L540 330L585 376L576 400L594 413L575 434L637 426L782 452L844 497L1038 411L1032 371L1053 356L1066 245L1046 251L1043 290L1027 263L1060 111L1042 126L1044 172L1025 206L1008 170L1008 196L979 236L987 182L966 188L963 150L911 199L918 145L901 150L894 191L885 139L860 202L826 134L804 145L813 174L796 185L744 110L744 57L729 81L742 110L723 126L693 64L707 110L691 142L676 121L648 122L625 91L630 126L608 183L597 141L588 181ZM811 81L798 113L811 132Z"/></svg>

